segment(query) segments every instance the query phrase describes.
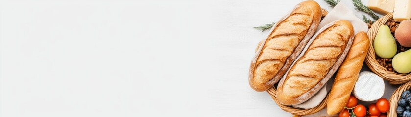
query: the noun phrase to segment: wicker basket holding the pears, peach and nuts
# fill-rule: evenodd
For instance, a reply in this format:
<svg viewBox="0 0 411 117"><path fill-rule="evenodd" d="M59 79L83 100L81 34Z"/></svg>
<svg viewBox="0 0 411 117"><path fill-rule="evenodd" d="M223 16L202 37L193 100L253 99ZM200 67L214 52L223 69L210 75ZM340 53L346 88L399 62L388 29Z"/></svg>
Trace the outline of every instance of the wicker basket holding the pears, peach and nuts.
<svg viewBox="0 0 411 117"><path fill-rule="evenodd" d="M411 80L411 73L398 74L395 72L388 71L386 68L381 66L375 59L374 47L372 46L374 37L378 32L378 28L380 28L381 25L384 25L388 20L392 19L392 13L389 13L386 16L375 21L375 23L372 24L371 28L368 30L367 35L370 39L370 47L368 49L367 57L365 58L365 63L371 69L371 71L373 71L378 76L388 80L390 84L403 84Z"/></svg>

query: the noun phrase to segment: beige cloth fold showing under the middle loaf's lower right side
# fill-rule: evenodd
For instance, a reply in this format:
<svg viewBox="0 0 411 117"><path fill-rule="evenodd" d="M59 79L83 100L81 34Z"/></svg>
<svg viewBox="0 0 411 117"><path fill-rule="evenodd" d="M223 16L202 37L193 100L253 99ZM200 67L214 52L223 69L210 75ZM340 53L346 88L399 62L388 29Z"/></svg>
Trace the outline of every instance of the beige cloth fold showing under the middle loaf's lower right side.
<svg viewBox="0 0 411 117"><path fill-rule="evenodd" d="M325 84L313 97L308 99L307 101L298 104L298 105L293 105L292 107L294 108L303 108L303 109L310 109L314 108L315 106L318 106L322 100L327 96L327 84Z"/></svg>

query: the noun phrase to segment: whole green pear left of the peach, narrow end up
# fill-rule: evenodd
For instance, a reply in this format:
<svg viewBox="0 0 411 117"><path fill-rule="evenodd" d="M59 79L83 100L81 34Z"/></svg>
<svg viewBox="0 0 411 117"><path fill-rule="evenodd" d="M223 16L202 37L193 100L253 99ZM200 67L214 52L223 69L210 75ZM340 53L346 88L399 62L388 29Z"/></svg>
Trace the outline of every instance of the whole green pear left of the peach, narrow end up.
<svg viewBox="0 0 411 117"><path fill-rule="evenodd" d="M374 50L378 57L392 58L397 53L397 43L387 25L381 25L374 39Z"/></svg>

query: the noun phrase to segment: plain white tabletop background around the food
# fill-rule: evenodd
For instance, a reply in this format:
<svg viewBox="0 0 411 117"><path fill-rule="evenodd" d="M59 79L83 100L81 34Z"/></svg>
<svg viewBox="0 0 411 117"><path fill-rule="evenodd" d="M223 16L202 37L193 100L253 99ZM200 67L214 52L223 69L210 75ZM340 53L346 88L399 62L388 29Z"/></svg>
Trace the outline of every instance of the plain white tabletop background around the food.
<svg viewBox="0 0 411 117"><path fill-rule="evenodd" d="M0 116L291 117L248 68L300 1L1 0Z"/></svg>

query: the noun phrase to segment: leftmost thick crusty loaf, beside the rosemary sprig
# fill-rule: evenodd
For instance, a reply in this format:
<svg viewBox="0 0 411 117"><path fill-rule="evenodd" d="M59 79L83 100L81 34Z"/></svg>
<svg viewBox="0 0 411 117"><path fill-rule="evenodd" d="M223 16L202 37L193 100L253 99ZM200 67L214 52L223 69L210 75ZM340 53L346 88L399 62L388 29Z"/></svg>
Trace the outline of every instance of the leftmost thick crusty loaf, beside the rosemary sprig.
<svg viewBox="0 0 411 117"><path fill-rule="evenodd" d="M272 87L301 53L321 20L317 2L303 1L274 25L251 61L249 83L256 91Z"/></svg>

